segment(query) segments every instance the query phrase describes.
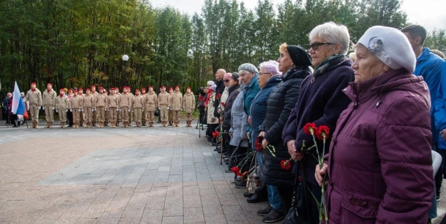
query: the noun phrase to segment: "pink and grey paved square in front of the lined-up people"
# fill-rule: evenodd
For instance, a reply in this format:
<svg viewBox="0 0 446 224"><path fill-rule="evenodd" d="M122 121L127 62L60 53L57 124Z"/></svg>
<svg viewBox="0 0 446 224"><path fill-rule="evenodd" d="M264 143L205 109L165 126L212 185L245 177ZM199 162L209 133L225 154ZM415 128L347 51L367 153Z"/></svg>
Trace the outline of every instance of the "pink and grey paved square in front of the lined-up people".
<svg viewBox="0 0 446 224"><path fill-rule="evenodd" d="M262 223L195 126L53 126L0 126L1 224Z"/></svg>

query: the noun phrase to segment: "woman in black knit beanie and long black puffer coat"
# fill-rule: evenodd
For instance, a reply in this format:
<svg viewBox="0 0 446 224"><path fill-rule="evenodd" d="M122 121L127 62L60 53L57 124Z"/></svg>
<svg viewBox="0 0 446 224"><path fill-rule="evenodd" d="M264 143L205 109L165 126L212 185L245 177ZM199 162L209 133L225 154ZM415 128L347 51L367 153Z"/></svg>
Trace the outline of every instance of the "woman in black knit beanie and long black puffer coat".
<svg viewBox="0 0 446 224"><path fill-rule="evenodd" d="M291 110L296 106L299 98L300 85L310 75L310 55L300 46L280 45L280 56L277 59L279 71L283 72L282 82L269 95L266 104L265 121L260 126L260 134L263 136L263 147L272 145L275 148L275 156L269 150L263 151L263 166L260 180L268 185L277 186L282 208L268 206L257 212L257 215L266 215L264 219L275 220L272 216L283 217L291 207L291 199L294 186L294 177L291 169L285 170L280 166L280 161L289 159L288 149L282 141L282 130ZM274 213L271 211L274 210ZM281 215L281 216L279 216Z"/></svg>

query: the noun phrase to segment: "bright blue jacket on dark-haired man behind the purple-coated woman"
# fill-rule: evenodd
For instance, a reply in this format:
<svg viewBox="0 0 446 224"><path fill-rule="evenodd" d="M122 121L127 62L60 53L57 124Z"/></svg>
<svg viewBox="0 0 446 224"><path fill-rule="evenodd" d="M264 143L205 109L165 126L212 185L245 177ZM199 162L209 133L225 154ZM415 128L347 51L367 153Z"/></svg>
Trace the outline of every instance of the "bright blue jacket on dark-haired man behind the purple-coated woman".
<svg viewBox="0 0 446 224"><path fill-rule="evenodd" d="M434 142L437 141L437 134L435 127L435 101L437 94L440 92L440 81L442 79L442 66L444 60L441 59L427 47L423 48L423 53L417 59L417 66L415 67L414 75L423 76L423 79L428 84L429 92L431 93L431 130L434 136Z"/></svg>

